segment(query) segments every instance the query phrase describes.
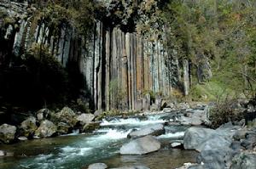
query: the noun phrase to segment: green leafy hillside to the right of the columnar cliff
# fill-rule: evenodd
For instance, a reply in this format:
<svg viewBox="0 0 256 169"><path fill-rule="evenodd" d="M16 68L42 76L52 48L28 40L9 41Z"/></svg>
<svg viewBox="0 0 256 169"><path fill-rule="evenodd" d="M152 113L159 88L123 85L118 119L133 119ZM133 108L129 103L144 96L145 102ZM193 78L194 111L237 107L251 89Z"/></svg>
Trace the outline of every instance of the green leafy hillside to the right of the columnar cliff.
<svg viewBox="0 0 256 169"><path fill-rule="evenodd" d="M163 12L166 46L189 59L194 77L190 98L255 95L256 3L253 0L170 1ZM212 78L198 76L209 60ZM201 70L204 72L204 70Z"/></svg>

